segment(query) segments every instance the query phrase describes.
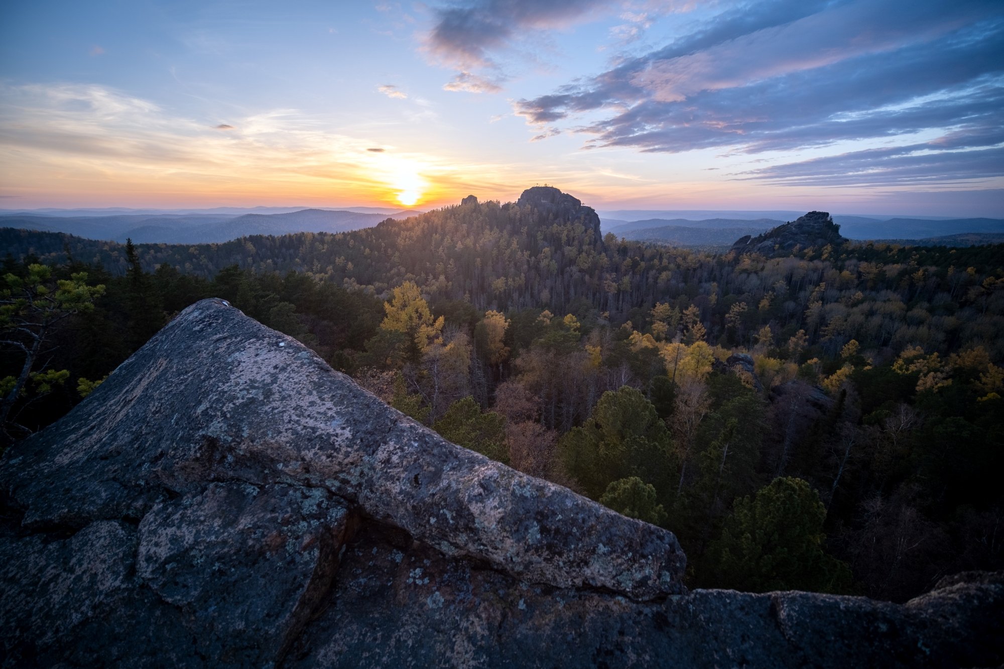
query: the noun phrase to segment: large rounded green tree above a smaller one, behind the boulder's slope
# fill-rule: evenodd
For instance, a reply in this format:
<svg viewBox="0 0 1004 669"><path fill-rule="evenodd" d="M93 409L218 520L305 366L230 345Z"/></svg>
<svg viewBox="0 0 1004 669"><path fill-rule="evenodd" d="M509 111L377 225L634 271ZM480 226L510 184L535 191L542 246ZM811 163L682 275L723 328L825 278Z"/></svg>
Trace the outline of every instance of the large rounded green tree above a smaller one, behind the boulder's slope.
<svg viewBox="0 0 1004 669"><path fill-rule="evenodd" d="M561 438L566 471L585 493L598 499L613 481L638 476L661 494L672 490L676 461L666 424L641 391L607 391L588 420Z"/></svg>

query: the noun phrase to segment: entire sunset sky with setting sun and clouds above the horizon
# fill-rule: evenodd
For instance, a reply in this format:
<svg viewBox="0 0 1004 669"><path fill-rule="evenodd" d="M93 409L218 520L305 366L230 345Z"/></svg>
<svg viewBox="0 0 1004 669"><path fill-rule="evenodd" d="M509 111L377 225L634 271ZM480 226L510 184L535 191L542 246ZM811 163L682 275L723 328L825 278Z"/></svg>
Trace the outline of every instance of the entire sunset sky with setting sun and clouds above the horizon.
<svg viewBox="0 0 1004 669"><path fill-rule="evenodd" d="M0 6L0 208L1004 217L1000 0Z"/></svg>

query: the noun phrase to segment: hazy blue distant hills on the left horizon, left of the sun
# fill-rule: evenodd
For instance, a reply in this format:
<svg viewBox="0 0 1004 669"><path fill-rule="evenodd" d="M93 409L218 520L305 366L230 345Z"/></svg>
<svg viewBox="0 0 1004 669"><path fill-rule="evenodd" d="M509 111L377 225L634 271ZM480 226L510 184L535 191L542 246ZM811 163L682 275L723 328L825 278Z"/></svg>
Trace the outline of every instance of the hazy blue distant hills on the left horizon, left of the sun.
<svg viewBox="0 0 1004 669"><path fill-rule="evenodd" d="M64 232L106 241L204 244L247 235L284 235L293 232L347 232L376 225L388 218L406 218L411 212L381 213L303 209L278 214L119 214L114 216L0 216L0 227Z"/></svg>

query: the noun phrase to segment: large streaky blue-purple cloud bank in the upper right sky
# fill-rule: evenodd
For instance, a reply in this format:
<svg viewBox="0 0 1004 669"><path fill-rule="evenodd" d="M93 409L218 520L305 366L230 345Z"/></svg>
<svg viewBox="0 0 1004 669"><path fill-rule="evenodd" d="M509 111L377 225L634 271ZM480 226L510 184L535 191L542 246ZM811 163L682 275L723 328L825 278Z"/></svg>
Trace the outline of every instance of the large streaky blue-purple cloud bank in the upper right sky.
<svg viewBox="0 0 1004 669"><path fill-rule="evenodd" d="M574 129L592 136L587 147L749 154L862 141L909 146L918 135L953 132L986 149L1001 141L1002 103L999 4L781 0L726 10L662 48L513 107L538 128L599 115ZM925 170L935 179L994 172L967 171L949 157L897 161L903 169L889 175L897 182L924 179Z"/></svg>

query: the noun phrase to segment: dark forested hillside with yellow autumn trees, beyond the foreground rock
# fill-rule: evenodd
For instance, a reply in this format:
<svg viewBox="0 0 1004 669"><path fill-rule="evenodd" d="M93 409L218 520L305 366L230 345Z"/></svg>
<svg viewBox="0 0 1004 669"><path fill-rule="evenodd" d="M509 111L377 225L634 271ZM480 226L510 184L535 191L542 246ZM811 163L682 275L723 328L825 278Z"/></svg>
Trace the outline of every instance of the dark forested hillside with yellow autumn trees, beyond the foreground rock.
<svg viewBox="0 0 1004 669"><path fill-rule="evenodd" d="M692 585L904 600L1004 568L1004 245L712 254L601 237L549 188L342 234L0 240L8 438L218 296L448 439L672 529ZM25 294L52 322L9 400Z"/></svg>

